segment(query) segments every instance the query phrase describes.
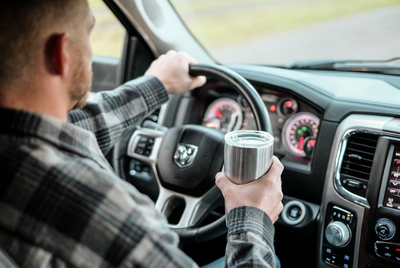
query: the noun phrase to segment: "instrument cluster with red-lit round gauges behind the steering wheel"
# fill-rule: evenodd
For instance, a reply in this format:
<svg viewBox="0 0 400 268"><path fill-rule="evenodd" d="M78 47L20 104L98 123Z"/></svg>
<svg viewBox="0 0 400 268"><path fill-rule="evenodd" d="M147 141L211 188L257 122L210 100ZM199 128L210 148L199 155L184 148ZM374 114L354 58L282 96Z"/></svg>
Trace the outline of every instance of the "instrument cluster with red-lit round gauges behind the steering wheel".
<svg viewBox="0 0 400 268"><path fill-rule="evenodd" d="M310 158L317 141L320 112L288 93L257 88L272 124L274 154ZM256 129L253 114L242 96L221 96L205 109L202 124L229 132Z"/></svg>

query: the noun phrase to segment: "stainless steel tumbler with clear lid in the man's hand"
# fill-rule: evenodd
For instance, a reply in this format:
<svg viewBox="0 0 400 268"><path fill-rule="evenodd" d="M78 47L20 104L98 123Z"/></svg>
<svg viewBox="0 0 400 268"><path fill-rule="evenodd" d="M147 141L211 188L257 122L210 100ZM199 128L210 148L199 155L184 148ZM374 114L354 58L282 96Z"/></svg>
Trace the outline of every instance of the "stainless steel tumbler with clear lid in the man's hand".
<svg viewBox="0 0 400 268"><path fill-rule="evenodd" d="M228 132L225 134L224 173L233 183L248 183L269 170L272 154L273 136L268 132Z"/></svg>

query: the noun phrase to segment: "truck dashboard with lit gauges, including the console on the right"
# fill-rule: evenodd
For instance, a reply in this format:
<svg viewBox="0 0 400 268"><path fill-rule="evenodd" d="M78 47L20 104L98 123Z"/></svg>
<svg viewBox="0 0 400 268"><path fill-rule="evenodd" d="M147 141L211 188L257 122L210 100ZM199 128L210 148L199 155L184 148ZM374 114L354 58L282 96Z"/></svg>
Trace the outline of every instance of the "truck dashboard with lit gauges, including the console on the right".
<svg viewBox="0 0 400 268"><path fill-rule="evenodd" d="M232 65L260 94L284 165L275 224L282 265L400 264L400 78ZM177 99L179 98L179 99ZM171 125L255 129L245 100L219 81L172 98ZM177 109L177 110L176 110ZM164 121L168 122L168 120ZM295 244L288 258L287 241ZM369 265L369 266L368 266Z"/></svg>

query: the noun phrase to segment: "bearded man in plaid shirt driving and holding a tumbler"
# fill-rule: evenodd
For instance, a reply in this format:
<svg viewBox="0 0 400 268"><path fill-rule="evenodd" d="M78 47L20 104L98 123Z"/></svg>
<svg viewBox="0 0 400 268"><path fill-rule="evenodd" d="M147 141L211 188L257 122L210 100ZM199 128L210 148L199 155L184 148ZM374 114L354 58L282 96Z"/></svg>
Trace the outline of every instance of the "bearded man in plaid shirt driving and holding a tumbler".
<svg viewBox="0 0 400 268"><path fill-rule="evenodd" d="M143 76L87 101L92 71L87 0L13 0L0 9L0 246L20 267L196 267L154 203L104 154L154 109L201 86L196 61L168 51ZM260 179L219 172L226 266L274 267L283 208L276 157Z"/></svg>

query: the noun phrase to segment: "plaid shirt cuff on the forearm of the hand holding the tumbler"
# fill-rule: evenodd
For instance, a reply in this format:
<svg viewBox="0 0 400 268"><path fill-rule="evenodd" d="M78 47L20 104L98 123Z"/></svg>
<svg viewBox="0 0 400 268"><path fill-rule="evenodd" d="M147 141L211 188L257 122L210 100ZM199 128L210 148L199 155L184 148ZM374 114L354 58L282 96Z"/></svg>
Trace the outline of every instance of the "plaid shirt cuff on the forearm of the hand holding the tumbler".
<svg viewBox="0 0 400 268"><path fill-rule="evenodd" d="M274 227L268 215L256 207L229 211L225 252L227 267L275 267Z"/></svg>

